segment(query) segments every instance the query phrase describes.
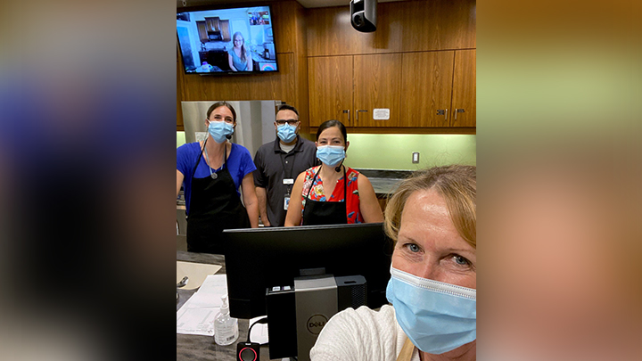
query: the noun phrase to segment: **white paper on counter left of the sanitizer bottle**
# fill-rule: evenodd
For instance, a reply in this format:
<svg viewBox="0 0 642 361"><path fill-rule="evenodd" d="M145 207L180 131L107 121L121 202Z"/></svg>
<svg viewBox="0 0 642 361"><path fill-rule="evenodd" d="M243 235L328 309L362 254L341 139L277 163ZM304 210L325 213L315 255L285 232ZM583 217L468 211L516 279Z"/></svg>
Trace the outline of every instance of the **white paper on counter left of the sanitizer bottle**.
<svg viewBox="0 0 642 361"><path fill-rule="evenodd" d="M213 336L214 317L221 307L221 296L225 294L226 275L208 275L201 288L177 310L177 333Z"/></svg>

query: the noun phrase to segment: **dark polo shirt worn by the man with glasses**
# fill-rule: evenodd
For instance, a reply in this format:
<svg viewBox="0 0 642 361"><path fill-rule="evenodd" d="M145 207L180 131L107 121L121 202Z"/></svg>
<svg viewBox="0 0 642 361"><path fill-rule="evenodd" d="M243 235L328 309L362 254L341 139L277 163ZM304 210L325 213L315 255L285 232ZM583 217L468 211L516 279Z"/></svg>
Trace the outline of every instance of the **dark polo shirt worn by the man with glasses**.
<svg viewBox="0 0 642 361"><path fill-rule="evenodd" d="M268 219L272 226L284 226L285 194L292 193L292 185L284 185L284 178L296 180L301 172L317 165L317 145L297 135L297 143L292 151L281 150L279 138L272 143L263 144L254 156L254 185L266 189L268 193Z"/></svg>

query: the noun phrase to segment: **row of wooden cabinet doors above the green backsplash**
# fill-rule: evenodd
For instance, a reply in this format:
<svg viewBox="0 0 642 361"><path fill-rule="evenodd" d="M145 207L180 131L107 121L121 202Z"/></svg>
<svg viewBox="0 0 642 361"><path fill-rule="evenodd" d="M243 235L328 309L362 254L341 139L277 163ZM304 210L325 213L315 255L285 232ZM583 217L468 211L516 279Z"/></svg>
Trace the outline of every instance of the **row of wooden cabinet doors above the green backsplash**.
<svg viewBox="0 0 642 361"><path fill-rule="evenodd" d="M476 126L475 50L310 57L308 68L310 127Z"/></svg>

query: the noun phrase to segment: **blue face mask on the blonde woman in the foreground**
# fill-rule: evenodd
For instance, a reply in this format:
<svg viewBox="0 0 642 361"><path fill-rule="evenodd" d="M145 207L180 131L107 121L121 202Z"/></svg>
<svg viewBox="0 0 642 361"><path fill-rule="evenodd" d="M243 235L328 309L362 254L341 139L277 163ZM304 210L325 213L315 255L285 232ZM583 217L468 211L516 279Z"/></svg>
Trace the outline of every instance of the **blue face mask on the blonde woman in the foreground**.
<svg viewBox="0 0 642 361"><path fill-rule="evenodd" d="M477 291L410 275L391 267L386 297L408 339L443 354L477 339Z"/></svg>

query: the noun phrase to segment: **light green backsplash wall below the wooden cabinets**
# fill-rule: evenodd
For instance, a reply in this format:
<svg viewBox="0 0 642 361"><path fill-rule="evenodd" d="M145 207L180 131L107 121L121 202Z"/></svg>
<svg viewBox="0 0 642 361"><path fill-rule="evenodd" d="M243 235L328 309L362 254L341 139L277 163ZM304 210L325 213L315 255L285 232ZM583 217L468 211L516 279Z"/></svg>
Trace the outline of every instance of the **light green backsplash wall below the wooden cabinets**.
<svg viewBox="0 0 642 361"><path fill-rule="evenodd" d="M476 135L380 135L349 134L351 168L403 169L477 164ZM177 132L177 147L185 144L185 132ZM419 152L419 163L412 153Z"/></svg>

